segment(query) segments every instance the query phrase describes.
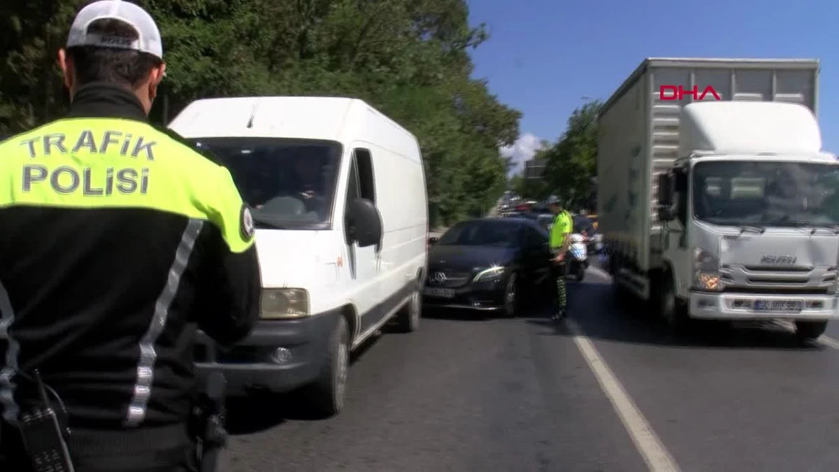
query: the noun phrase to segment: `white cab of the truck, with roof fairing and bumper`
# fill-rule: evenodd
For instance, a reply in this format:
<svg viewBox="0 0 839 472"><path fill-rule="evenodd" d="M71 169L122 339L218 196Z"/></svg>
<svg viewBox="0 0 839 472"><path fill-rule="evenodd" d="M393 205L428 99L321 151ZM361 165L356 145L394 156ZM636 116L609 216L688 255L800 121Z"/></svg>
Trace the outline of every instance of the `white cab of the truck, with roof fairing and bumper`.
<svg viewBox="0 0 839 472"><path fill-rule="evenodd" d="M817 338L839 317L839 165L816 117L794 103L696 102L680 128L650 241L662 314L676 328L783 319Z"/></svg>

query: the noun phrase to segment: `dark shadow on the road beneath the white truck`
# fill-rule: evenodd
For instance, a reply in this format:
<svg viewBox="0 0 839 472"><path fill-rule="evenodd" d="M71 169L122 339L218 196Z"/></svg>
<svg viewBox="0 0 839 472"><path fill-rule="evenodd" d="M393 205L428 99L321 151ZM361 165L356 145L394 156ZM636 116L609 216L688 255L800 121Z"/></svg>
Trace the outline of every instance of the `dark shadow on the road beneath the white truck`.
<svg viewBox="0 0 839 472"><path fill-rule="evenodd" d="M608 283L569 284L569 302L570 320L554 323L538 318L530 319L528 323L545 328L539 331L541 335L584 335L595 340L677 349L826 349L815 343L801 344L789 328L778 323L697 321L689 334L677 338L642 303L618 306L613 301L612 287Z"/></svg>

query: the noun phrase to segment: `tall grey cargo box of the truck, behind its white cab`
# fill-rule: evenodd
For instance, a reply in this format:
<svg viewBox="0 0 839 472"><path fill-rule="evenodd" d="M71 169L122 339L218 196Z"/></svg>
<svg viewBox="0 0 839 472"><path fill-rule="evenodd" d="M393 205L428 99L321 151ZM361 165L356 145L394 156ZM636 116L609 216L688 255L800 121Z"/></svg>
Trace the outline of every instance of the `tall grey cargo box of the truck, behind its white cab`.
<svg viewBox="0 0 839 472"><path fill-rule="evenodd" d="M599 229L625 263L654 268L657 176L680 157L682 106L698 101L800 103L816 113L818 60L647 59L599 117Z"/></svg>

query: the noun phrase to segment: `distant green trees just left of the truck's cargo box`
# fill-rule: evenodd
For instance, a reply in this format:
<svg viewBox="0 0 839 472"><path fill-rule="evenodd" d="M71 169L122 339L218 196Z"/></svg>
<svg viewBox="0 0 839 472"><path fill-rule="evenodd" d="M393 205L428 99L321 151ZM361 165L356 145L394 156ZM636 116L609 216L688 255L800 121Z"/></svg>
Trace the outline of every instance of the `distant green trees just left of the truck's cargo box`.
<svg viewBox="0 0 839 472"><path fill-rule="evenodd" d="M542 179L513 177L513 188L523 197L544 199L555 194L575 209L593 210L593 177L597 176L597 113L601 102L589 102L568 118L565 132L534 158L545 159Z"/></svg>

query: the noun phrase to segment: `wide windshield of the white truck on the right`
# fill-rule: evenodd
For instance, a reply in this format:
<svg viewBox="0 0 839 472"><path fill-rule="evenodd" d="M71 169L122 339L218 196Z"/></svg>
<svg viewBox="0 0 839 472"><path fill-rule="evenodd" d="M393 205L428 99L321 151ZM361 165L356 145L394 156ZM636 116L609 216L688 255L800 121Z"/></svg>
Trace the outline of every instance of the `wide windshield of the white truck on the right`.
<svg viewBox="0 0 839 472"><path fill-rule="evenodd" d="M839 225L839 167L711 161L693 171L694 216L711 224Z"/></svg>

